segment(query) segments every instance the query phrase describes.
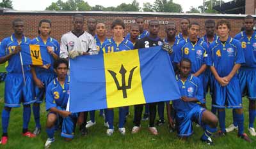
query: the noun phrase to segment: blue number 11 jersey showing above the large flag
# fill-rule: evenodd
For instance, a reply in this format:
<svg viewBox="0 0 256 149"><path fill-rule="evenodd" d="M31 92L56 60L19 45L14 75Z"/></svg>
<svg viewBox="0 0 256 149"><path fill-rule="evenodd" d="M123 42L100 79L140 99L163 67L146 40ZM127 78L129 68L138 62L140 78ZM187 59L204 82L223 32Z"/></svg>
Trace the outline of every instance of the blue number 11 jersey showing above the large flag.
<svg viewBox="0 0 256 149"><path fill-rule="evenodd" d="M116 44L113 38L103 43L105 46L102 48L103 53L120 52L133 49L131 41L124 39L120 44Z"/></svg>

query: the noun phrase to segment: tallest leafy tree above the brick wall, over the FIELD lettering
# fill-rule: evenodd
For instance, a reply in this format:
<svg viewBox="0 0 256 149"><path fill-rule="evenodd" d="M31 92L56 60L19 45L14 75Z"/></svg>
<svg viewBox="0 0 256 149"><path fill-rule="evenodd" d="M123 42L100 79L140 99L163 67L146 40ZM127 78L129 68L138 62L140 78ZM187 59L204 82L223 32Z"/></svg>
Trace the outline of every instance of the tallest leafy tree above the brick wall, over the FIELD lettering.
<svg viewBox="0 0 256 149"><path fill-rule="evenodd" d="M172 0L156 0L153 5L156 12L181 12L180 4L173 3Z"/></svg>

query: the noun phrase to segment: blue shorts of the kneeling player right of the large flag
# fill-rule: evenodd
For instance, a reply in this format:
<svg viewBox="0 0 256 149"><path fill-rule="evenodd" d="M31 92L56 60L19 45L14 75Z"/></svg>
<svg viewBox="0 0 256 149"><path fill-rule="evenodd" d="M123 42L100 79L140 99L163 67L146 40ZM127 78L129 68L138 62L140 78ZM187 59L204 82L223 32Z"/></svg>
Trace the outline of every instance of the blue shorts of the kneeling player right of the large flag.
<svg viewBox="0 0 256 149"><path fill-rule="evenodd" d="M202 108L199 105L196 105L190 111L176 111L176 122L177 122L177 132L179 137L188 137L193 134L193 122L198 123L204 127L202 122L202 116L205 111L205 108Z"/></svg>

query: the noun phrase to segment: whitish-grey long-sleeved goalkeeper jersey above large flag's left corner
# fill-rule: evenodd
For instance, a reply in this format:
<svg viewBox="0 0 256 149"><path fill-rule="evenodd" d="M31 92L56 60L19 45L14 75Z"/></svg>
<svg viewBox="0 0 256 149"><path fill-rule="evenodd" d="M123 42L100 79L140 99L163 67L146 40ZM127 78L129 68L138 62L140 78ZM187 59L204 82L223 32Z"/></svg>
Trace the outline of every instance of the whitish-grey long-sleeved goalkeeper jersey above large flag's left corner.
<svg viewBox="0 0 256 149"><path fill-rule="evenodd" d="M90 55L98 54L93 36L86 31L79 37L71 31L63 34L60 43L60 58L67 58L71 50L89 52Z"/></svg>

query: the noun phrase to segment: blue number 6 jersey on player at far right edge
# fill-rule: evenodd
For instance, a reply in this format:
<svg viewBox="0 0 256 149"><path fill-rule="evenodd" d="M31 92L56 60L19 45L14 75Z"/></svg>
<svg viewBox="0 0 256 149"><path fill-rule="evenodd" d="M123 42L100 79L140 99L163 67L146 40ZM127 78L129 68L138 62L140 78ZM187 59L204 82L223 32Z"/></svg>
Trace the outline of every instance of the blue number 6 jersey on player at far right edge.
<svg viewBox="0 0 256 149"><path fill-rule="evenodd" d="M245 63L241 67L256 68L256 32L254 31L252 37L249 38L243 31L236 34L234 39L239 40L243 48Z"/></svg>

